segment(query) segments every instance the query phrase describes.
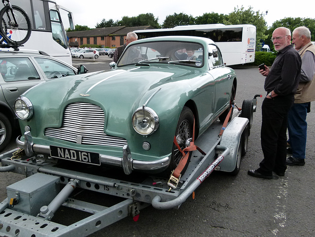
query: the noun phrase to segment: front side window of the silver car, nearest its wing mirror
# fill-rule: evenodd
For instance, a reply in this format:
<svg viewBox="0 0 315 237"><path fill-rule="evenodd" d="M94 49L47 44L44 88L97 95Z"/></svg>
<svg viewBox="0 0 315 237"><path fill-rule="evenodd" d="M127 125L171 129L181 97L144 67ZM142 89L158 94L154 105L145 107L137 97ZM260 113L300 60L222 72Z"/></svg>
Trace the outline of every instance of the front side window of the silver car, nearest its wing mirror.
<svg viewBox="0 0 315 237"><path fill-rule="evenodd" d="M44 71L46 77L50 78L59 78L62 76L75 75L76 73L72 68L69 68L55 60L46 59L46 58L34 58L41 69Z"/></svg>

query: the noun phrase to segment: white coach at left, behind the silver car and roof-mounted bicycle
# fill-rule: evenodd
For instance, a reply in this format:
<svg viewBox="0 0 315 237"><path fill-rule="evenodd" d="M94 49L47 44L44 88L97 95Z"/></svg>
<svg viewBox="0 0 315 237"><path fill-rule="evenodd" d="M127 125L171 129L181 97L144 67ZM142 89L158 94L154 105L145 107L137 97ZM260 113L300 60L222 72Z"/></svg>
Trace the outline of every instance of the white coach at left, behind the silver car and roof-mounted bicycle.
<svg viewBox="0 0 315 237"><path fill-rule="evenodd" d="M21 7L32 23L32 34L21 49L43 51L72 65L68 39L61 14L67 15L70 29L74 29L72 13L52 0L10 0ZM66 13L66 14L64 14Z"/></svg>

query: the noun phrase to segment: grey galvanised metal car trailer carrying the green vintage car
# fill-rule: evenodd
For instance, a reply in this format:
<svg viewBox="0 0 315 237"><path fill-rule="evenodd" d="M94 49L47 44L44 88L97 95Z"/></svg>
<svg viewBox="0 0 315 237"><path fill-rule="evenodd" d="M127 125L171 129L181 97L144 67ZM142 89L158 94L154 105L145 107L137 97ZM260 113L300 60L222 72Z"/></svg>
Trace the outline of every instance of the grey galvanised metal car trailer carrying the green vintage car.
<svg viewBox="0 0 315 237"><path fill-rule="evenodd" d="M241 156L247 151L258 96L245 100L242 109L234 105L234 116L226 127L217 121L198 137L195 144L206 155L192 153L188 168L174 189L163 177L117 174L111 169L104 176L93 167L69 169L41 156L27 158L20 148L1 154L1 172L15 172L26 178L6 187L7 198L0 203L0 236L88 236L127 216L137 220L139 211L151 204L157 209L179 208L213 170L238 173ZM107 207L94 202L94 195L87 200L77 198L85 192L97 193L102 200L110 195L123 201ZM63 225L58 222L62 206L89 216Z"/></svg>

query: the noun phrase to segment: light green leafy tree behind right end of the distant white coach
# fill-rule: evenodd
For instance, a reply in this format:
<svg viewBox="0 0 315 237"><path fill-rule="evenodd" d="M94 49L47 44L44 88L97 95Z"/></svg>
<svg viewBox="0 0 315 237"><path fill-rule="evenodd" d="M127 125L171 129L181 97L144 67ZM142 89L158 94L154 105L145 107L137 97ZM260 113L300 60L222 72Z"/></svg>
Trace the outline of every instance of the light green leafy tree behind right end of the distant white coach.
<svg viewBox="0 0 315 237"><path fill-rule="evenodd" d="M231 12L225 20L225 25L239 25L239 24L251 24L256 27L256 50L261 49L261 41L264 41L268 35L265 34L267 30L267 23L259 11L254 12L250 6L245 9L234 7L234 11Z"/></svg>

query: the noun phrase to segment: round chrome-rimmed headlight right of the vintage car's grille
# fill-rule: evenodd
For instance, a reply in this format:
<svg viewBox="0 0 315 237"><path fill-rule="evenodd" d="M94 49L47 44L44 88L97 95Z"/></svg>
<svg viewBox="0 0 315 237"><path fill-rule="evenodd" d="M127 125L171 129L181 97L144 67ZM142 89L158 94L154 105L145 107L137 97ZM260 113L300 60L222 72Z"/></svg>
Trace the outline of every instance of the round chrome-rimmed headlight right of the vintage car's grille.
<svg viewBox="0 0 315 237"><path fill-rule="evenodd" d="M157 113L149 107L138 108L132 115L132 126L140 135L150 135L159 125Z"/></svg>

